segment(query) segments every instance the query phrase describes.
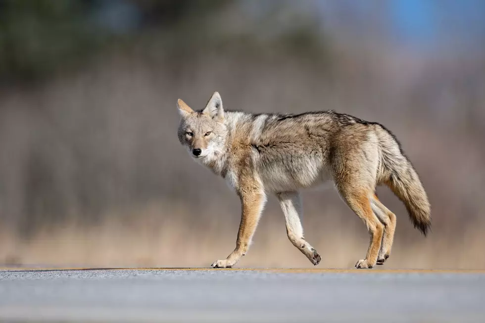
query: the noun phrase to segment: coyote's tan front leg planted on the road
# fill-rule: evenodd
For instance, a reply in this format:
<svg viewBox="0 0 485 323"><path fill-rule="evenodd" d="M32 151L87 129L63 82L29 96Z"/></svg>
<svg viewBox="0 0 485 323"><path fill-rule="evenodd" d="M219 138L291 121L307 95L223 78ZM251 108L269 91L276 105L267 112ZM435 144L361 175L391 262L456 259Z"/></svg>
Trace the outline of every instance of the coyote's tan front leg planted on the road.
<svg viewBox="0 0 485 323"><path fill-rule="evenodd" d="M266 196L260 190L245 191L239 195L241 197L242 214L236 249L225 260L214 262L211 265L214 268L230 268L246 254L266 202Z"/></svg>

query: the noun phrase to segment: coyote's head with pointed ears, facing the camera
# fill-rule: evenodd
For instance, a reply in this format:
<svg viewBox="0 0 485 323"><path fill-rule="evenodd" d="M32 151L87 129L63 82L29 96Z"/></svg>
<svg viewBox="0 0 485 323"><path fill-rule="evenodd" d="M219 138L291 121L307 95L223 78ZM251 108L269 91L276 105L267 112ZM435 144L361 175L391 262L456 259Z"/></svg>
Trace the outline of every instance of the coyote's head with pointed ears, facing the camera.
<svg viewBox="0 0 485 323"><path fill-rule="evenodd" d="M194 111L184 101L177 101L182 120L179 140L192 157L208 162L224 150L227 128L221 96L214 92L205 109Z"/></svg>

